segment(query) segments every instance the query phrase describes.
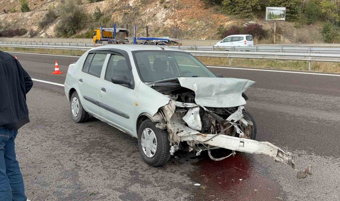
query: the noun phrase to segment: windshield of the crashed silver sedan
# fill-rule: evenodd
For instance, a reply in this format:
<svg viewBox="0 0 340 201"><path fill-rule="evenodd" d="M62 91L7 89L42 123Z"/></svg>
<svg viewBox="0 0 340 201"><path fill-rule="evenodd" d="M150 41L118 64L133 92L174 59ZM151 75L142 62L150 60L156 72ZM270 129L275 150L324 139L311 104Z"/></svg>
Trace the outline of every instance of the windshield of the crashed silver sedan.
<svg viewBox="0 0 340 201"><path fill-rule="evenodd" d="M175 51L135 51L135 61L143 82L178 77L215 77L194 56Z"/></svg>

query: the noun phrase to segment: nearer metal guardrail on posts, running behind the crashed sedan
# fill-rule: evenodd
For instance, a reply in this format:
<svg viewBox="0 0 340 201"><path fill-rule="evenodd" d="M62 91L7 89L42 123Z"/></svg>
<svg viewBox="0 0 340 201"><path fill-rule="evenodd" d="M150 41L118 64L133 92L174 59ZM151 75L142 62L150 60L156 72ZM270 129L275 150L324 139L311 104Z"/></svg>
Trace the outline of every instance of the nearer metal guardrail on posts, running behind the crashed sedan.
<svg viewBox="0 0 340 201"><path fill-rule="evenodd" d="M93 47L77 47L77 46L47 46L47 45L14 45L0 44L0 47L12 48L28 48L31 49L55 49L55 50L72 50L87 51ZM234 49L235 50L235 49ZM232 64L232 58L252 58L252 59L272 59L272 60L295 60L308 61L309 70L311 63L314 62L340 62L340 54L338 53L294 53L294 52L251 52L251 51L203 51L203 50L186 50L193 56L204 57L223 57L229 58L229 65Z"/></svg>

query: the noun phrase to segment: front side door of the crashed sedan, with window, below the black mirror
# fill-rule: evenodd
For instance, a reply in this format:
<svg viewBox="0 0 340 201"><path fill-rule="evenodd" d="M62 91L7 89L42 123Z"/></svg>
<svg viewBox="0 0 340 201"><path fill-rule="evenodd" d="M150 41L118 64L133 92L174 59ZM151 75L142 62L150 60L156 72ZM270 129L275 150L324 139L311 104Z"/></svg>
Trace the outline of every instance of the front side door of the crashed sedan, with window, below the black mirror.
<svg viewBox="0 0 340 201"><path fill-rule="evenodd" d="M99 84L101 116L123 129L133 131L132 116L137 89L135 89L128 53L121 50L111 51L106 70L103 72L104 78ZM114 84L111 81L114 75L124 75L131 79L131 84Z"/></svg>

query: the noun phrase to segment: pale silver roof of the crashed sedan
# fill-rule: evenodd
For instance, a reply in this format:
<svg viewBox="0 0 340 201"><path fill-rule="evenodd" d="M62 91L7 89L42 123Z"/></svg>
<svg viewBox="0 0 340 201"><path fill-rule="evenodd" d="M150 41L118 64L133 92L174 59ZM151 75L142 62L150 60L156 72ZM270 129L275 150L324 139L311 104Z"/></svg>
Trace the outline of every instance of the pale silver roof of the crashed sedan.
<svg viewBox="0 0 340 201"><path fill-rule="evenodd" d="M103 45L96 47L94 49L119 49L119 50L125 50L125 51L140 51L140 50L169 50L169 51L181 51L185 52L183 50L179 50L177 48L169 48L166 46L157 46L157 45Z"/></svg>

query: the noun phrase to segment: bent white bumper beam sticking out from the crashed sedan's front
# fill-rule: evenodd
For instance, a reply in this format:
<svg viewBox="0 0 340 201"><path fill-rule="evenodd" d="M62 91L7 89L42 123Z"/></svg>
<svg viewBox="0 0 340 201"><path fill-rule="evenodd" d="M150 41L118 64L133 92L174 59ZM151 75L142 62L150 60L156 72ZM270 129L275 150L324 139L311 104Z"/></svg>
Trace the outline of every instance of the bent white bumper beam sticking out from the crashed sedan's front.
<svg viewBox="0 0 340 201"><path fill-rule="evenodd" d="M193 134L181 136L181 141L196 141L206 145L241 151L253 154L263 154L273 157L276 161L287 164L295 169L293 156L289 152L284 152L269 142L260 142L247 138L233 137L229 135L214 134Z"/></svg>

